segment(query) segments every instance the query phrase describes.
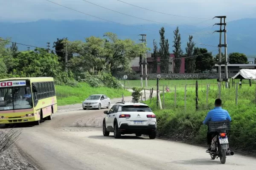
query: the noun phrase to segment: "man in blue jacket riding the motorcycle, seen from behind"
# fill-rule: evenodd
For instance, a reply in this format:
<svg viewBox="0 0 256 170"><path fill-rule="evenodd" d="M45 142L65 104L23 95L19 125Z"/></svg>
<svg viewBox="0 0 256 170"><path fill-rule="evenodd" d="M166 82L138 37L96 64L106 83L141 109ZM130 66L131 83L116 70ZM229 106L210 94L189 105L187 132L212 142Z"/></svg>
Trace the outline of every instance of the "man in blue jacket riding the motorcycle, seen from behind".
<svg viewBox="0 0 256 170"><path fill-rule="evenodd" d="M209 121L221 122L221 121L229 120L231 122L231 117L230 117L228 111L222 109L221 104L222 104L221 99L216 99L215 100L215 108L207 113L207 116L206 116L206 118L204 119L204 122L203 122L204 125L208 125ZM206 150L207 153L209 153L210 150L211 150L212 135L214 133L215 132L209 132L209 127L208 127L208 131L207 131L208 149Z"/></svg>

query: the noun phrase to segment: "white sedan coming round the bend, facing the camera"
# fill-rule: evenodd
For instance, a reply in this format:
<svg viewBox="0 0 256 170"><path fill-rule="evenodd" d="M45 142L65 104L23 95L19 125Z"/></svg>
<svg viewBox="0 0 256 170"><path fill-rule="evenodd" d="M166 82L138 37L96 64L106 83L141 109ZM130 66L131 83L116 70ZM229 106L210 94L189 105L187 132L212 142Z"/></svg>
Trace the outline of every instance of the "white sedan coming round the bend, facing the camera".
<svg viewBox="0 0 256 170"><path fill-rule="evenodd" d="M110 105L110 98L105 94L93 94L84 100L82 107L84 110L89 108L97 108L100 110L101 108L110 108Z"/></svg>

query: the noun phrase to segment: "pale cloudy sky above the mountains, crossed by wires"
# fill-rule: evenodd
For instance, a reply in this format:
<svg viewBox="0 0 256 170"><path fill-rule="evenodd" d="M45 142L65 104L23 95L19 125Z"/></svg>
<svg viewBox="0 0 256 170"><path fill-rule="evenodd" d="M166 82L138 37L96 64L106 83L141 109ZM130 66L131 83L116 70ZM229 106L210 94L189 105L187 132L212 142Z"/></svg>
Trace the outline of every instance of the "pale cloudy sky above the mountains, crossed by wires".
<svg viewBox="0 0 256 170"><path fill-rule="evenodd" d="M54 3L76 9L96 17L122 24L159 23L191 24L201 26L212 24L210 18L227 15L227 21L241 18L256 18L256 0L122 0L136 6L163 13L180 15L177 17L137 8L118 0L86 0L105 8L110 8L134 17L118 14L95 6L83 0L50 0ZM0 22L29 22L40 19L51 20L99 20L76 11L50 3L47 0L0 0ZM208 20L208 21L206 21Z"/></svg>

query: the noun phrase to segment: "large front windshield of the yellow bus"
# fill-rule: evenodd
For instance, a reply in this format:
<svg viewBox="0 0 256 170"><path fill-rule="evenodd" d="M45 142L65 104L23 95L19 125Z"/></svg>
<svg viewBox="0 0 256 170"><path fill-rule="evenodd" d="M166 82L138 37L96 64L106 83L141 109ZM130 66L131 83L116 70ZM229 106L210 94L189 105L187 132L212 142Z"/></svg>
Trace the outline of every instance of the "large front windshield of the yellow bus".
<svg viewBox="0 0 256 170"><path fill-rule="evenodd" d="M0 88L0 111L32 108L29 86Z"/></svg>

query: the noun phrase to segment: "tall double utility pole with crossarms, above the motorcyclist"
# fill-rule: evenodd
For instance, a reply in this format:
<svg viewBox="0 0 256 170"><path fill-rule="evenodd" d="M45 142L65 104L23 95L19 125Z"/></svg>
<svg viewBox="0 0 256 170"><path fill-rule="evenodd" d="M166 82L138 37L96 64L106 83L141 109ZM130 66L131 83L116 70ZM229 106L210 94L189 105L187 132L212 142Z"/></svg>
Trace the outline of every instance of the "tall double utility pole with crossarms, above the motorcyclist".
<svg viewBox="0 0 256 170"><path fill-rule="evenodd" d="M214 25L219 25L220 26L220 30L219 31L214 31L214 32L219 32L220 33L220 42L218 45L219 48L219 59L218 59L218 84L220 84L223 79L221 79L221 47L225 47L225 79L224 81L226 82L226 88L229 88L229 79L228 79L228 75L227 75L227 30L226 30L226 18L227 16L217 16L214 18L220 18L221 22L220 23L216 23ZM222 18L224 19L224 23L222 23ZM224 26L224 29L222 30L222 26ZM224 44L221 44L221 33L224 32Z"/></svg>

